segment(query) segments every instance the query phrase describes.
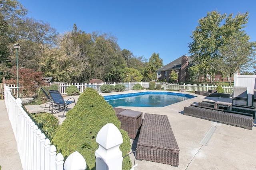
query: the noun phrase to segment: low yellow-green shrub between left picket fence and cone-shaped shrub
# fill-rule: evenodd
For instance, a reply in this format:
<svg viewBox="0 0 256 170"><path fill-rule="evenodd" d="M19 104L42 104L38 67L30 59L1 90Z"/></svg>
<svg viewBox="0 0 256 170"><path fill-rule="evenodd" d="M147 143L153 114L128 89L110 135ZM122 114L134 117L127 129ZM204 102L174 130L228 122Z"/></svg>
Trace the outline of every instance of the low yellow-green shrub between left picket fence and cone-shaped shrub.
<svg viewBox="0 0 256 170"><path fill-rule="evenodd" d="M58 118L50 113L34 113L29 115L38 125L38 128L42 130L42 133L51 141L59 128Z"/></svg>

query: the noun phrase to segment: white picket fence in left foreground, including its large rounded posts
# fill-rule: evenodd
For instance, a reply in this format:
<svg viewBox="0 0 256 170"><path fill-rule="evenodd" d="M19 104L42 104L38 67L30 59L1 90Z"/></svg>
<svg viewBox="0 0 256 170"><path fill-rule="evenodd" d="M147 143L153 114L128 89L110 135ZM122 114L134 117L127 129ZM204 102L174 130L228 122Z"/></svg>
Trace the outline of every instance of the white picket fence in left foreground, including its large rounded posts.
<svg viewBox="0 0 256 170"><path fill-rule="evenodd" d="M5 85L4 90L6 109L24 170L86 169L86 161L78 152L70 154L64 162L63 155L56 153L56 147L50 145L50 140L46 138L44 133L38 129L38 126L24 111L21 99L15 99L8 86ZM111 137L108 137L108 135L111 135ZM116 142L117 139L119 143ZM122 144L122 135L118 128L112 123L106 124L99 131L96 142L99 144L99 149L96 150L96 170L121 170L122 152L119 147ZM114 144L111 145L111 148L108 148L105 146L106 143Z"/></svg>

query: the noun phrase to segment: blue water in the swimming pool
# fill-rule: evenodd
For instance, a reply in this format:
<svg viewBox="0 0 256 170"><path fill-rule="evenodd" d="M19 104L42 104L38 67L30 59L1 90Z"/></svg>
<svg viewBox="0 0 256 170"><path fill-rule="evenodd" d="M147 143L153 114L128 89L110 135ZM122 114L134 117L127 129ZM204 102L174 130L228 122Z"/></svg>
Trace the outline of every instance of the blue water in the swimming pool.
<svg viewBox="0 0 256 170"><path fill-rule="evenodd" d="M164 107L170 104L194 98L196 96L172 92L139 92L103 97L113 107Z"/></svg>

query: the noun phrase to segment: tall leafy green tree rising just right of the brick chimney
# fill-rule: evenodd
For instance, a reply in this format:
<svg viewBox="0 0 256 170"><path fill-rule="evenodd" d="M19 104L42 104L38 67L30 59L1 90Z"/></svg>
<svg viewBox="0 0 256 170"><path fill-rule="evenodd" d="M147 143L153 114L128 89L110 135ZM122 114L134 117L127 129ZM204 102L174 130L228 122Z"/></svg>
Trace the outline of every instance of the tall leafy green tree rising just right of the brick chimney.
<svg viewBox="0 0 256 170"><path fill-rule="evenodd" d="M210 74L211 83L218 69L216 60L220 58L219 47L222 45L220 24L225 17L226 14L221 15L217 11L207 12L207 16L198 21L199 25L192 32L193 41L188 45L194 61L204 66L204 80L206 74Z"/></svg>

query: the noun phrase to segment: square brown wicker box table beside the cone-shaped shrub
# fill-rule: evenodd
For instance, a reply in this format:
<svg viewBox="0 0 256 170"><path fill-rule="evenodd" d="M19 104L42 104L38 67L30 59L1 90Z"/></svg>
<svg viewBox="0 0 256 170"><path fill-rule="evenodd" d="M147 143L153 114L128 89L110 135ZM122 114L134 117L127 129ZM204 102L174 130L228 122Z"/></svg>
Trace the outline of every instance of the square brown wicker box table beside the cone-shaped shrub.
<svg viewBox="0 0 256 170"><path fill-rule="evenodd" d="M142 112L130 109L114 108L116 116L121 122L121 129L128 132L130 139L135 139L142 124Z"/></svg>

